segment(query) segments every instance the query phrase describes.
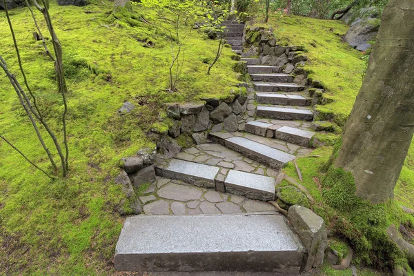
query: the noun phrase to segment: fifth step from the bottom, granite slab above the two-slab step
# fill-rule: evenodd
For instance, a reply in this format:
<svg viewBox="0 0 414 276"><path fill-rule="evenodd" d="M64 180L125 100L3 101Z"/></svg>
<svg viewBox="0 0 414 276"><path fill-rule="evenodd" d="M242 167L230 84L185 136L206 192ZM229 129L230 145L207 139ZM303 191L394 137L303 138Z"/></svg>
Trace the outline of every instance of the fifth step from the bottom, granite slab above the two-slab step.
<svg viewBox="0 0 414 276"><path fill-rule="evenodd" d="M257 106L256 114L259 117L279 120L311 121L313 119L313 112L311 110L279 108L273 106Z"/></svg>

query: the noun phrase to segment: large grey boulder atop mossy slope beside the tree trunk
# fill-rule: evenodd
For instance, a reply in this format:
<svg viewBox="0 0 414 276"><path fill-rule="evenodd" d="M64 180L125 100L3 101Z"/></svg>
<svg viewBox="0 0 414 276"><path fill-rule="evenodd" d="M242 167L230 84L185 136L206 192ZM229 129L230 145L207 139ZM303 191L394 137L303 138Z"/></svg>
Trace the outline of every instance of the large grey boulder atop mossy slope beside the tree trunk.
<svg viewBox="0 0 414 276"><path fill-rule="evenodd" d="M381 20L377 18L365 18L357 21L344 35L345 41L354 49L366 51L371 48L368 41L375 39L380 30Z"/></svg>

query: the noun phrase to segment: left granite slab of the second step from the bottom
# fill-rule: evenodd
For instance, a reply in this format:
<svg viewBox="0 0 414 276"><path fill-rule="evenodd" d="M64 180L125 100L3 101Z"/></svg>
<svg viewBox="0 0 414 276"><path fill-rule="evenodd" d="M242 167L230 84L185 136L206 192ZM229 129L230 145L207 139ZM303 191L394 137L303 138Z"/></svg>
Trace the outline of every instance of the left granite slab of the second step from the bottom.
<svg viewBox="0 0 414 276"><path fill-rule="evenodd" d="M157 174L195 186L215 188L215 177L219 170L219 168L213 166L172 159L165 168L157 168Z"/></svg>

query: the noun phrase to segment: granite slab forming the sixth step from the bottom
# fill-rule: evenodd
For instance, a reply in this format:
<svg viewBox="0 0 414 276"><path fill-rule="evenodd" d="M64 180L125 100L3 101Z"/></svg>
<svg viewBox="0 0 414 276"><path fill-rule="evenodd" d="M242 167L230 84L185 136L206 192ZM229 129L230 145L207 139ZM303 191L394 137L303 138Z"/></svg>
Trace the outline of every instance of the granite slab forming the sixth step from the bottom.
<svg viewBox="0 0 414 276"><path fill-rule="evenodd" d="M301 95L259 93L255 95L256 101L262 104L273 104L281 106L311 106L311 100Z"/></svg>

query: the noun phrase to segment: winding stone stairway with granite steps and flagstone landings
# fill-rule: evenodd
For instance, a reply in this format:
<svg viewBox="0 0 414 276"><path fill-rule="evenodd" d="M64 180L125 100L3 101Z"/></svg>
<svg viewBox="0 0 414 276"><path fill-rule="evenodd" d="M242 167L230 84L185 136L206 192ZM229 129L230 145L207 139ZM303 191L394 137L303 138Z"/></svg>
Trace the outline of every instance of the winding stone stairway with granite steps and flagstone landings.
<svg viewBox="0 0 414 276"><path fill-rule="evenodd" d="M223 25L227 43L241 55L244 24ZM121 231L116 270L297 275L312 266L314 250L264 202L275 200L280 168L311 152L311 99L281 68L242 61L254 87L246 124L236 132L213 128L210 144L159 157L158 179L140 197L145 215L128 217Z"/></svg>

